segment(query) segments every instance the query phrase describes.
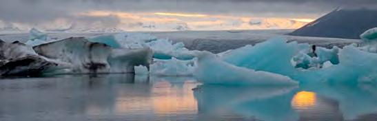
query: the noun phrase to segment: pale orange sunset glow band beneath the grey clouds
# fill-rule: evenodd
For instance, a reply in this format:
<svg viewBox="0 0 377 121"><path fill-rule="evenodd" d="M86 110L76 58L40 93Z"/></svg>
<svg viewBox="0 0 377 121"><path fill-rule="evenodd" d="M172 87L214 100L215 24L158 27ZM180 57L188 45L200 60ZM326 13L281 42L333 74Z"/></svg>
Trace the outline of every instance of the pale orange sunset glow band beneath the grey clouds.
<svg viewBox="0 0 377 121"><path fill-rule="evenodd" d="M116 28L125 31L176 31L178 28L179 30L297 29L313 21L313 19L188 12L88 11L76 15L80 17L116 17L120 21Z"/></svg>

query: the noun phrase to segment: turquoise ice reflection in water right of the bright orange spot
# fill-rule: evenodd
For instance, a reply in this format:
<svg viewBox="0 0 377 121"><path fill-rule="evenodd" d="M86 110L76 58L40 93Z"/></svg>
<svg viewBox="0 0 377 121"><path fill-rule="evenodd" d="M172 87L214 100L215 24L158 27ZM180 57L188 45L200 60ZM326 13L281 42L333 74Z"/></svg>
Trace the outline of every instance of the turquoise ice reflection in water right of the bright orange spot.
<svg viewBox="0 0 377 121"><path fill-rule="evenodd" d="M334 100L345 120L377 119L377 87L371 84L358 85L305 85L319 96ZM374 118L371 118L374 117Z"/></svg>

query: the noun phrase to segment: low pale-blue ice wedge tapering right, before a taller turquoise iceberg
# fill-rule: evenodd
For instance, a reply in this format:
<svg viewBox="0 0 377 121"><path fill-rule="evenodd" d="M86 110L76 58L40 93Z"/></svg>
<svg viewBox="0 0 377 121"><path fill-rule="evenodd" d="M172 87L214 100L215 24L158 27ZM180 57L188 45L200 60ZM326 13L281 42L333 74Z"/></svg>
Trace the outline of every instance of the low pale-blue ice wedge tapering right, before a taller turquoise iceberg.
<svg viewBox="0 0 377 121"><path fill-rule="evenodd" d="M198 67L194 76L205 84L222 85L296 85L287 76L270 72L254 71L221 61L210 52L196 52ZM243 57L242 57L243 58Z"/></svg>

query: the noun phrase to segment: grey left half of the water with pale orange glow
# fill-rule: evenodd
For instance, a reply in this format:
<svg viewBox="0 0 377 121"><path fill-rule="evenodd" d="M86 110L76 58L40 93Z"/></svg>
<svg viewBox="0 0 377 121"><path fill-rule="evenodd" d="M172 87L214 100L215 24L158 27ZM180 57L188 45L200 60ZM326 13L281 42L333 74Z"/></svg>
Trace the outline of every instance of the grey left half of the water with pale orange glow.
<svg viewBox="0 0 377 121"><path fill-rule="evenodd" d="M0 80L0 120L194 118L191 89L197 83L171 79L112 74Z"/></svg>

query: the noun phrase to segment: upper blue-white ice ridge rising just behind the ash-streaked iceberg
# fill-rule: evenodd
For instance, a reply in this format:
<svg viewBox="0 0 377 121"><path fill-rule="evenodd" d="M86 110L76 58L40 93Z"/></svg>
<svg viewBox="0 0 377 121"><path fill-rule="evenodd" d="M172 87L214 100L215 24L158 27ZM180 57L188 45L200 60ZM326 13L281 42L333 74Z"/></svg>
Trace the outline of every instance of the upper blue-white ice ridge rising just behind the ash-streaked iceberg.
<svg viewBox="0 0 377 121"><path fill-rule="evenodd" d="M114 48L140 49L149 47L154 52L154 58L169 60L179 58L180 60L191 60L194 56L185 54L190 52L183 43L172 43L167 39L156 39L150 34L119 33L105 34L89 38L91 42L104 43Z"/></svg>

